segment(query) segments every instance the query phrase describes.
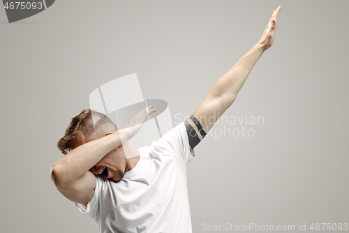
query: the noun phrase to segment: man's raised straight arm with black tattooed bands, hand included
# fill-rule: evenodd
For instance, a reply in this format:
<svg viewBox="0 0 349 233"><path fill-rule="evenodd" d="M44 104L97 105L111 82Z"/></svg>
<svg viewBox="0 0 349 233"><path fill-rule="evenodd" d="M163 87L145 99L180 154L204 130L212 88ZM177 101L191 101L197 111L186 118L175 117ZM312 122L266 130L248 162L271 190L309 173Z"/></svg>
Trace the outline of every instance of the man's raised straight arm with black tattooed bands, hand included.
<svg viewBox="0 0 349 233"><path fill-rule="evenodd" d="M214 83L202 104L191 118L186 120L186 131L191 149L205 137L218 118L232 105L255 63L262 53L272 46L276 30L276 17L280 10L281 6L274 10L260 41Z"/></svg>

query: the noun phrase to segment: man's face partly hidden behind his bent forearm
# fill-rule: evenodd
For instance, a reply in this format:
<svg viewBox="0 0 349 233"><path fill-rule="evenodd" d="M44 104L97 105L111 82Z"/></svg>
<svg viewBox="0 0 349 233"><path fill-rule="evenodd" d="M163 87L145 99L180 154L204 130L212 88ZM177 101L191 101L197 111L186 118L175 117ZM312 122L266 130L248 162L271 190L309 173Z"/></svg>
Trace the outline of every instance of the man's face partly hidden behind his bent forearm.
<svg viewBox="0 0 349 233"><path fill-rule="evenodd" d="M77 134L74 143L71 145L71 149L77 148L84 143L89 142L82 134ZM89 171L93 174L100 174L105 178L118 183L124 177L126 169L126 156L122 144L105 155L94 167L91 167Z"/></svg>

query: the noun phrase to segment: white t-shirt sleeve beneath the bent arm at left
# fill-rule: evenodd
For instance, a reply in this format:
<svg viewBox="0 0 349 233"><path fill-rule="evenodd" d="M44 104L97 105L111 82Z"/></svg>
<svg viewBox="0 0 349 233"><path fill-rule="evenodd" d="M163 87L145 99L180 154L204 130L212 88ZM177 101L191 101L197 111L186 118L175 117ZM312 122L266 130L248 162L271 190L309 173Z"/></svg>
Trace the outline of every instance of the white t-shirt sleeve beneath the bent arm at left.
<svg viewBox="0 0 349 233"><path fill-rule="evenodd" d="M99 211L99 190L103 187L103 181L100 176L96 176L96 188L94 189L94 195L87 204L87 206L84 206L80 203L75 203L77 206L77 209L81 213L86 213L87 216L91 217L93 220L97 220L98 218L98 211Z"/></svg>

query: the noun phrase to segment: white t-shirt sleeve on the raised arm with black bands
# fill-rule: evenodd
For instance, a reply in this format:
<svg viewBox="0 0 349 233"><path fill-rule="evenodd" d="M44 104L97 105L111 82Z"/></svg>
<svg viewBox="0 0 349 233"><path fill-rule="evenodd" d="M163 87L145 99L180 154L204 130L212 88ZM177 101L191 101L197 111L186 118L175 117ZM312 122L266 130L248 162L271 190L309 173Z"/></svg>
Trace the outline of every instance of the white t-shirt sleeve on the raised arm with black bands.
<svg viewBox="0 0 349 233"><path fill-rule="evenodd" d="M188 134L184 122L172 128L159 139L162 143L168 144L174 154L179 156L185 165L195 158L194 150L189 147Z"/></svg>

